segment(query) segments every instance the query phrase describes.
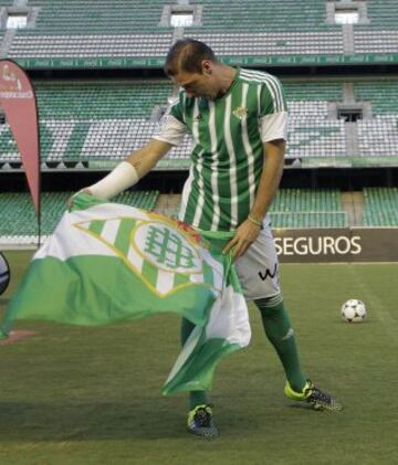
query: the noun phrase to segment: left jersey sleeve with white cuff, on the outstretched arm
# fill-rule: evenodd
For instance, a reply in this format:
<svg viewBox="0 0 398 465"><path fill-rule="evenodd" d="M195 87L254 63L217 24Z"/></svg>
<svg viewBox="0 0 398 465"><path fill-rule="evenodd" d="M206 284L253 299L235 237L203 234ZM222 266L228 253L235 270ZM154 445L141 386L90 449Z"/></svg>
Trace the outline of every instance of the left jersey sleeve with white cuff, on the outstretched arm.
<svg viewBox="0 0 398 465"><path fill-rule="evenodd" d="M159 121L154 139L179 146L188 129L182 119L180 101L174 102Z"/></svg>

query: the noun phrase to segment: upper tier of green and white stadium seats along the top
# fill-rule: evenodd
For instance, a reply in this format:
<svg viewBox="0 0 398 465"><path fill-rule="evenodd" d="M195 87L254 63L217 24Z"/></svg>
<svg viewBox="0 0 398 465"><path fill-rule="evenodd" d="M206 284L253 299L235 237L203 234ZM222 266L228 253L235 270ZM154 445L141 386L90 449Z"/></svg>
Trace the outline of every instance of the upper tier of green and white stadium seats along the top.
<svg viewBox="0 0 398 465"><path fill-rule="evenodd" d="M174 40L175 29L166 17L175 4L178 2L164 0L33 0L28 7L39 12L35 25L17 31L7 56L32 67L129 66L132 60L137 66L140 62L161 66ZM398 39L395 0L366 4L369 23L354 28L357 57L394 53ZM254 59L255 64L255 59L271 56L287 63L320 56L342 61L352 52L342 25L327 20L325 1L192 0L189 6L200 11L200 19L196 20L199 24L186 27L184 34L208 42L218 54L235 61Z"/></svg>

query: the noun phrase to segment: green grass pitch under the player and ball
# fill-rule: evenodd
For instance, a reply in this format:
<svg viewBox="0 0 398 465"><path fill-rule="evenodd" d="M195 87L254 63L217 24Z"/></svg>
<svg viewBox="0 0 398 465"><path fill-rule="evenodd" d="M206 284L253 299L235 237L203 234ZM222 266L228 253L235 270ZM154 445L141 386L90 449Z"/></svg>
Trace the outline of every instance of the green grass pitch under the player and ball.
<svg viewBox="0 0 398 465"><path fill-rule="evenodd" d="M12 283L1 310L30 254L6 256ZM251 345L216 372L213 442L186 433L185 395L160 394L179 352L175 316L101 328L22 321L18 328L36 335L0 349L0 463L396 464L397 272L283 265L305 372L344 410L315 412L284 398L281 366L251 307ZM341 319L348 298L366 303L363 324Z"/></svg>

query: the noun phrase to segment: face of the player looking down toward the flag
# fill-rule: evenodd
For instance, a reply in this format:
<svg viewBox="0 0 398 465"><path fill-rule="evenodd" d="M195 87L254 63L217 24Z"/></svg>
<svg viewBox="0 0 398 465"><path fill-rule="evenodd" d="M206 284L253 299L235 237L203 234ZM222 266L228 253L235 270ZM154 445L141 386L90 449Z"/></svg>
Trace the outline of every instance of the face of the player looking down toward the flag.
<svg viewBox="0 0 398 465"><path fill-rule="evenodd" d="M219 94L217 80L213 74L206 71L203 73L180 71L171 80L186 89L188 97L205 97L213 101Z"/></svg>

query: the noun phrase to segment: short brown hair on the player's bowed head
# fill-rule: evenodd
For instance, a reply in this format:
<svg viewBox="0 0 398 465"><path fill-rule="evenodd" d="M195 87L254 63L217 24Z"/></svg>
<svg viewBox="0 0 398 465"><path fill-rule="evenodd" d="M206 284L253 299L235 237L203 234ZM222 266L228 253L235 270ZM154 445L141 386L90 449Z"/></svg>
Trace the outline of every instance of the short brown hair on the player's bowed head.
<svg viewBox="0 0 398 465"><path fill-rule="evenodd" d="M168 76L175 76L180 71L201 73L203 60L217 62L214 52L209 45L193 39L178 40L166 56L165 73Z"/></svg>

